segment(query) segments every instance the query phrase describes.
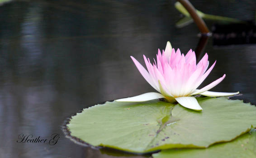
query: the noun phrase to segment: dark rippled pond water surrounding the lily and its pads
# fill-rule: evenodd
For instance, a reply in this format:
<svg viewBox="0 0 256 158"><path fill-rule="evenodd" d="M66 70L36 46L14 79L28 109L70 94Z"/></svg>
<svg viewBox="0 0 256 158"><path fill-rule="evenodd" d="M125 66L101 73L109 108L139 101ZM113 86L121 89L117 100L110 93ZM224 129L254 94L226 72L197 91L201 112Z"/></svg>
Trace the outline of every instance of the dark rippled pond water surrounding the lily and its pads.
<svg viewBox="0 0 256 158"><path fill-rule="evenodd" d="M208 14L255 19L256 2L250 0L191 2ZM194 23L175 28L180 13L174 3L19 0L1 5L0 158L117 157L66 139L62 123L89 105L154 92L130 55L140 62L143 54L153 58L168 40L184 53L195 49L198 28ZM209 38L204 52L217 64L203 85L225 73L212 90L240 91L237 98L256 104L256 45L213 47ZM61 137L52 146L17 143L20 134L50 139L53 133Z"/></svg>

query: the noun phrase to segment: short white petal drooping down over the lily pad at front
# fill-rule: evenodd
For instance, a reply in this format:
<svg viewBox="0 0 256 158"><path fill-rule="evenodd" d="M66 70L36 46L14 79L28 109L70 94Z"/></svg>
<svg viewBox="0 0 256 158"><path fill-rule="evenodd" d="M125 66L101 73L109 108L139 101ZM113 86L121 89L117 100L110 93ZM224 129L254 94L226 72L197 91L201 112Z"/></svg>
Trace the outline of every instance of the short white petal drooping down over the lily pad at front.
<svg viewBox="0 0 256 158"><path fill-rule="evenodd" d="M196 98L194 97L178 97L175 98L177 102L180 103L183 107L193 109L196 111L203 110L202 107L200 107L199 103L197 102Z"/></svg>

